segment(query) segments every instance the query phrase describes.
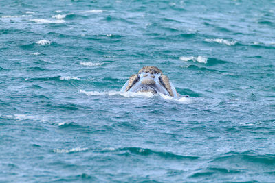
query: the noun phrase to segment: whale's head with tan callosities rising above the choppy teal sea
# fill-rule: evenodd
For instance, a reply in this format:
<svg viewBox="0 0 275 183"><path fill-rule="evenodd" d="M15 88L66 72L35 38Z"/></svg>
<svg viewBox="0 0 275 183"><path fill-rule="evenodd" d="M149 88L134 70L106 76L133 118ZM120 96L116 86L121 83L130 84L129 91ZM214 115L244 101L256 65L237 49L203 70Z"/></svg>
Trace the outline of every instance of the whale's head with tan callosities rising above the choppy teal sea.
<svg viewBox="0 0 275 183"><path fill-rule="evenodd" d="M177 91L166 75L156 66L144 66L138 74L131 75L121 89L122 92L162 93L178 97Z"/></svg>

